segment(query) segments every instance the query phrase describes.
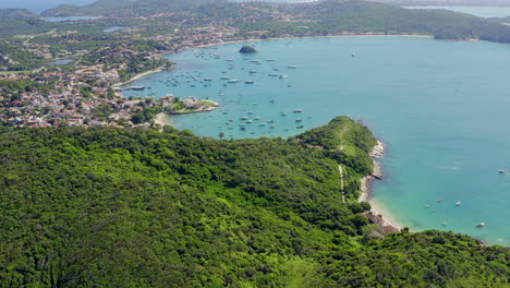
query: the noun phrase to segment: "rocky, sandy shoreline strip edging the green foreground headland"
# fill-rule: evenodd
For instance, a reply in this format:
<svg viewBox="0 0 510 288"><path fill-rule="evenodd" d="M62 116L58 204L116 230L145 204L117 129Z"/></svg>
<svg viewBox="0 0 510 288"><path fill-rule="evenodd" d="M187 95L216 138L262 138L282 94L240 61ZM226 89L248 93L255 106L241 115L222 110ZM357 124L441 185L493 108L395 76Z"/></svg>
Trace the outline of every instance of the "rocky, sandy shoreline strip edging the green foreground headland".
<svg viewBox="0 0 510 288"><path fill-rule="evenodd" d="M377 140L377 145L375 145L372 152L368 155L374 161L374 171L369 176L365 176L361 179L361 191L359 202L366 201L371 204L372 209L371 214L375 216L378 220L378 225L388 230L398 230L400 231L403 226L391 215L391 213L386 209L378 201L373 199L372 189L375 180L380 180L382 178L382 165L377 161L377 158L385 156L387 152L386 145Z"/></svg>

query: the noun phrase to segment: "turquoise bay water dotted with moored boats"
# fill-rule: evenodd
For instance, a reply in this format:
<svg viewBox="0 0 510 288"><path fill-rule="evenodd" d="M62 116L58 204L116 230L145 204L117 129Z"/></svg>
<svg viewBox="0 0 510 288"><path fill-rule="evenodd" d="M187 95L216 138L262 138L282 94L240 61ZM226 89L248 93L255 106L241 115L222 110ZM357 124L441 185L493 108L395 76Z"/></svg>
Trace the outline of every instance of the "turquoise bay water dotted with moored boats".
<svg viewBox="0 0 510 288"><path fill-rule="evenodd" d="M394 218L414 230L452 230L510 244L510 176L498 175L500 168L510 170L510 45L416 37L251 45L259 52L243 56L238 53L242 44L228 44L170 55L177 69L130 84L151 88L124 96L172 93L219 101L221 108L212 112L171 118L178 128L203 136L287 137L336 116L361 119L388 144L386 177L374 194ZM242 81L227 84L221 76ZM241 131L244 116L260 120ZM456 206L457 201L462 205ZM476 228L479 221L486 227Z"/></svg>

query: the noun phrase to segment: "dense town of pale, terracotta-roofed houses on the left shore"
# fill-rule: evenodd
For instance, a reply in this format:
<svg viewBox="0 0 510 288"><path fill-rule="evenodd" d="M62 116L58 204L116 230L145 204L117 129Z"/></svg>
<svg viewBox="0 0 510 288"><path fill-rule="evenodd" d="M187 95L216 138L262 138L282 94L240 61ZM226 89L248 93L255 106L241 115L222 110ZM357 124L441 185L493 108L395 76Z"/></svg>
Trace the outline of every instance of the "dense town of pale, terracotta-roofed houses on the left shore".
<svg viewBox="0 0 510 288"><path fill-rule="evenodd" d="M172 69L173 63L163 58L165 53L245 39L235 37L235 33L236 29L232 27L201 27L185 33L175 31L171 35L151 37L150 40L167 44L174 38L180 39L168 45L163 51L137 52L124 48L123 45L118 49L95 51L104 55L102 59L121 59L121 64L117 61L114 67L108 61L102 64L85 64L76 61L73 69L68 71L53 64L41 65L26 73L4 71L0 73L0 81L5 83L0 86L0 109L3 111L0 115L0 122L20 127L132 127L154 124L158 113L210 111L218 107L218 104L194 97L181 100L170 94L159 99L124 98L122 86L150 73ZM250 38L254 37L257 35ZM32 47L35 50L38 48ZM87 52L80 51L80 53ZM153 64L150 68L155 69L147 71L141 69L143 72L132 74L130 80L123 81L122 71L126 69L129 61L137 57L143 57L143 60L149 64L158 62L158 65ZM9 83L16 88L10 89ZM19 85L22 86L21 89ZM172 104L175 103L181 104L181 109L172 109Z"/></svg>

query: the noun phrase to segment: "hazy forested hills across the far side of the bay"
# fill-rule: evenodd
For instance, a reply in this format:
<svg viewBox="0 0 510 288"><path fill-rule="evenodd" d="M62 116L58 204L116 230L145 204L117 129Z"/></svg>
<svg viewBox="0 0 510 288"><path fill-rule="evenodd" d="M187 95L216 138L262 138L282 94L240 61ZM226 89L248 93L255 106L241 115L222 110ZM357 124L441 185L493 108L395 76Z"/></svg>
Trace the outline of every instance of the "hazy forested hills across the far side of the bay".
<svg viewBox="0 0 510 288"><path fill-rule="evenodd" d="M184 4L185 3L185 4ZM97 1L85 8L64 7L47 14L88 14L133 17L171 12L161 23L209 24L241 28L240 35L265 31L264 37L314 36L351 33L426 34L439 39L483 39L510 43L510 27L485 19L446 10L409 10L394 5L359 0L326 0L296 4L234 3L228 1ZM288 15L288 16L283 16ZM291 17L291 21L288 19ZM287 19L287 20L286 20ZM136 21L135 21L136 22ZM151 24L138 23L147 27ZM153 23L154 24L154 23Z"/></svg>

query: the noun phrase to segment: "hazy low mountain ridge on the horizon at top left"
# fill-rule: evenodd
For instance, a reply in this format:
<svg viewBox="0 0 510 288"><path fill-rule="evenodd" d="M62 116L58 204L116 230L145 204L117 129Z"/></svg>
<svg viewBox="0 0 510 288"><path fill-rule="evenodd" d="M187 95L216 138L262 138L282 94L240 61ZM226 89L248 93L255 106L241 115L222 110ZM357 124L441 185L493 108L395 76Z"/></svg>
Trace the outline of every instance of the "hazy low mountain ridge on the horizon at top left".
<svg viewBox="0 0 510 288"><path fill-rule="evenodd" d="M221 3L228 0L98 0L89 5L59 5L41 13L44 16L111 15L118 11L131 15L149 15L191 9L201 4ZM127 12L127 13L126 13ZM130 13L131 12L131 13Z"/></svg>

